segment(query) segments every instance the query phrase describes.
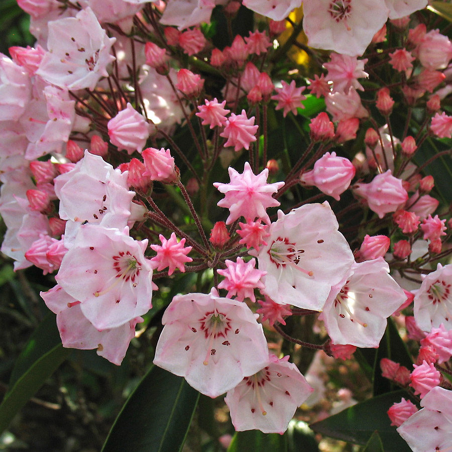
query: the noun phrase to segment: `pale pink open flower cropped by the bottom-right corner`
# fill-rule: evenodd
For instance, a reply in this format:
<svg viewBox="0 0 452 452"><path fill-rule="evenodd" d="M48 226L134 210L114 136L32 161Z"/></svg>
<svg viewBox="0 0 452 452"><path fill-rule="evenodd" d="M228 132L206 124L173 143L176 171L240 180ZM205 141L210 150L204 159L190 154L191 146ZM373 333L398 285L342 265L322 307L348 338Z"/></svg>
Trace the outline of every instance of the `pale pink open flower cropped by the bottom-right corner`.
<svg viewBox="0 0 452 452"><path fill-rule="evenodd" d="M397 431L413 452L446 451L452 447L452 391L434 387Z"/></svg>

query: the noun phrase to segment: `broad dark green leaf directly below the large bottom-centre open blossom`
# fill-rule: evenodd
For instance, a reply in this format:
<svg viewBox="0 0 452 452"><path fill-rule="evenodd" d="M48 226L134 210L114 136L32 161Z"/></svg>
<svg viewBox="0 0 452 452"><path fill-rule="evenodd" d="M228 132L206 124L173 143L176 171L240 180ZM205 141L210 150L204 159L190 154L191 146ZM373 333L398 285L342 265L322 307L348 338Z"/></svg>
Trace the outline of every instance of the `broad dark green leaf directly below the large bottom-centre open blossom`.
<svg viewBox="0 0 452 452"><path fill-rule="evenodd" d="M183 378L153 366L124 404L102 452L178 452L198 396Z"/></svg>

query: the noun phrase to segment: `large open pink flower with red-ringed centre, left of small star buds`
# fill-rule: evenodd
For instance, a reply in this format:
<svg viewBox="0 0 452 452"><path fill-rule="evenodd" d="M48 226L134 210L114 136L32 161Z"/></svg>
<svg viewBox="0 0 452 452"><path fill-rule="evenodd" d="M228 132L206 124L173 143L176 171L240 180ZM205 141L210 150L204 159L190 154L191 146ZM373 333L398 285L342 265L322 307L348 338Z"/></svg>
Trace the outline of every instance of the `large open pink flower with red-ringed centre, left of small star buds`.
<svg viewBox="0 0 452 452"><path fill-rule="evenodd" d="M147 245L129 237L128 228L82 224L55 279L97 329L115 328L152 307Z"/></svg>

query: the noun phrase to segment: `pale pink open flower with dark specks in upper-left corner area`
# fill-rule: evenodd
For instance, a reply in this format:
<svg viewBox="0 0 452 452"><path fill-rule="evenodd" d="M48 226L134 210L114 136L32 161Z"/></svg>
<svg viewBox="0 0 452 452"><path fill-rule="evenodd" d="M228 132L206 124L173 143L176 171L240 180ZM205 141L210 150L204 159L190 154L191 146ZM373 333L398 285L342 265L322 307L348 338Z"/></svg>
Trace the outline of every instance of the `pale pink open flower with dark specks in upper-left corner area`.
<svg viewBox="0 0 452 452"><path fill-rule="evenodd" d="M61 39L70 36L71 39ZM106 66L116 38L108 38L90 8L49 22L49 51L44 55L38 75L48 83L67 89L94 89L100 77L107 77Z"/></svg>

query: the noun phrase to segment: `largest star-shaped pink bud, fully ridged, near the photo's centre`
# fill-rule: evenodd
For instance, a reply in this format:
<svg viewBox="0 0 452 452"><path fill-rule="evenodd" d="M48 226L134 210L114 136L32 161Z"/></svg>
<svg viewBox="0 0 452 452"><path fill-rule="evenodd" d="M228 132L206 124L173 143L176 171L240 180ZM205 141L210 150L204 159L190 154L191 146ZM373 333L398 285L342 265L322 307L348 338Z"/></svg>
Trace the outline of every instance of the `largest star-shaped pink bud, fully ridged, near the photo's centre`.
<svg viewBox="0 0 452 452"><path fill-rule="evenodd" d="M272 197L272 193L276 193L284 182L268 184L268 169L255 175L248 162L245 162L242 174L230 167L229 177L231 178L229 184L219 182L213 184L218 191L225 193L224 199L221 199L217 205L228 207L230 210L226 224L231 224L241 216L244 216L247 221L254 221L258 217L269 224L270 218L266 209L279 205L279 201Z"/></svg>

